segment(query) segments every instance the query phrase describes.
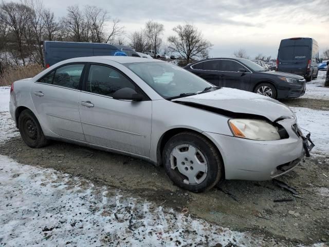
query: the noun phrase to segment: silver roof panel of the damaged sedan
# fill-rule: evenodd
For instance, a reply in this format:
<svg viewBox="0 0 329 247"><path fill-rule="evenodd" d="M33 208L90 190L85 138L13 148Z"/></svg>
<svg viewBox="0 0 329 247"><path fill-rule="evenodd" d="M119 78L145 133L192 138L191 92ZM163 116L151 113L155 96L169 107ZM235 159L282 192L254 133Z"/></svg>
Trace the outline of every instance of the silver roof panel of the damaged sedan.
<svg viewBox="0 0 329 247"><path fill-rule="evenodd" d="M137 57L128 57L128 56L92 56L92 57L81 57L81 58L71 58L64 60L67 62L95 62L97 59L102 60L111 60L117 63L143 63L143 62L165 62L158 59L149 59L149 58L137 58Z"/></svg>

